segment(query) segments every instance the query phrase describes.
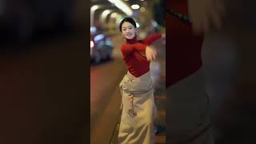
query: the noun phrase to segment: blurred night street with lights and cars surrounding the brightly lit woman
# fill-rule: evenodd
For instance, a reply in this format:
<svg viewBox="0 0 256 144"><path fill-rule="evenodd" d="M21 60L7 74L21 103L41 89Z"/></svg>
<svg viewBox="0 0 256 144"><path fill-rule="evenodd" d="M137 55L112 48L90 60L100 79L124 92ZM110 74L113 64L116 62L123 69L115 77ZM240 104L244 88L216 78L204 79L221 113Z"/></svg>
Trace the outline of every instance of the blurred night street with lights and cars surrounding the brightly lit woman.
<svg viewBox="0 0 256 144"><path fill-rule="evenodd" d="M90 143L118 143L122 112L119 83L126 74L120 47L124 40L118 29L122 18L137 22L138 39L165 34L165 0L90 1ZM165 141L165 38L153 44L158 58L151 62L154 98L158 106L156 143Z"/></svg>

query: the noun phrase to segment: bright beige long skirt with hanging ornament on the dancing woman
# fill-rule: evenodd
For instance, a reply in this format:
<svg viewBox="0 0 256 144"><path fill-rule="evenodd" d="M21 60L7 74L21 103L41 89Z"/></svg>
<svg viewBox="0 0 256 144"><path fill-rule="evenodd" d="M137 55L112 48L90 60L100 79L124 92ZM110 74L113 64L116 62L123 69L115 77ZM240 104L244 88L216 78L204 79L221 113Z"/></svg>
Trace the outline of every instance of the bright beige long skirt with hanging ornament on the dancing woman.
<svg viewBox="0 0 256 144"><path fill-rule="evenodd" d="M139 78L128 72L122 79L120 88L123 107L118 143L154 143L156 108L150 72Z"/></svg>

